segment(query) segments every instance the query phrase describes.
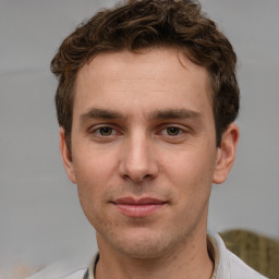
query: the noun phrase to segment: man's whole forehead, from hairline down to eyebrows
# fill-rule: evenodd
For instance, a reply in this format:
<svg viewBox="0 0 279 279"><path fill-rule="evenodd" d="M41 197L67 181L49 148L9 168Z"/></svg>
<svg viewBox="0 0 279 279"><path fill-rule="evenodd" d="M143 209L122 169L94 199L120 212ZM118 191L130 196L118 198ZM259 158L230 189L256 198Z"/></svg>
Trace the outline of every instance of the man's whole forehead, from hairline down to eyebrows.
<svg viewBox="0 0 279 279"><path fill-rule="evenodd" d="M135 102L147 105L146 99L157 109L180 107L186 100L190 109L198 102L211 104L208 73L174 48L100 53L77 73L74 111L121 102L124 111Z"/></svg>

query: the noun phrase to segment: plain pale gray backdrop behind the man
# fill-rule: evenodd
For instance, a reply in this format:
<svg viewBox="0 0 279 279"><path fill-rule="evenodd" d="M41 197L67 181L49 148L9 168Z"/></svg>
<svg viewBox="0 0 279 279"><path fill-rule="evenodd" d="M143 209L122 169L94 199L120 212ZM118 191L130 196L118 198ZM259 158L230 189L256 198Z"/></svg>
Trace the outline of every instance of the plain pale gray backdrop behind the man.
<svg viewBox="0 0 279 279"><path fill-rule="evenodd" d="M114 1L0 0L0 277L13 266L75 258L95 232L59 154L49 63L84 19ZM214 186L209 230L279 236L279 1L202 0L239 56L241 130L235 166Z"/></svg>

